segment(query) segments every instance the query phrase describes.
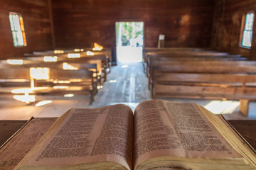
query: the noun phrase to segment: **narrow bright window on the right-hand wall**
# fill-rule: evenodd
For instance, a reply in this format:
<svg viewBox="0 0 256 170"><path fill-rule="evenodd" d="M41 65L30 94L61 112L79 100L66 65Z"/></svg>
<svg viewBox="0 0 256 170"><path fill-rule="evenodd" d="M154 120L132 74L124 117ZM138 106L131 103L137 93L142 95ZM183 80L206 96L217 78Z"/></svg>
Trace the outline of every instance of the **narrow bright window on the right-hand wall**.
<svg viewBox="0 0 256 170"><path fill-rule="evenodd" d="M252 46L252 28L253 28L254 13L247 13L243 18L242 26L242 47L250 48Z"/></svg>

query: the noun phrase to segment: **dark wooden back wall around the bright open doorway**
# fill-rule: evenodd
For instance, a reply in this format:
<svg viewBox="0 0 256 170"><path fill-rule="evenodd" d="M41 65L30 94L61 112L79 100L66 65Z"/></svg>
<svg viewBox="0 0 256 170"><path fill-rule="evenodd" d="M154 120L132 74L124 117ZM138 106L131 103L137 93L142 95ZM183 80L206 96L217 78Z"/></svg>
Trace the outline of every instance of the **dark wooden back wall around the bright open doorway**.
<svg viewBox="0 0 256 170"><path fill-rule="evenodd" d="M214 0L52 0L57 47L115 49L115 22L144 21L144 46L209 47ZM113 51L114 52L114 51Z"/></svg>

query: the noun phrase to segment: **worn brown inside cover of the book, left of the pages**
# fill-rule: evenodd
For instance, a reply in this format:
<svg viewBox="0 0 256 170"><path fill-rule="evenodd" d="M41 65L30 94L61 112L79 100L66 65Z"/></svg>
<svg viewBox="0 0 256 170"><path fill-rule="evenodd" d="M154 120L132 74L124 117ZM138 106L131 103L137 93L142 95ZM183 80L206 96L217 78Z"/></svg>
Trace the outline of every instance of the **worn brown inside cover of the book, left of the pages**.
<svg viewBox="0 0 256 170"><path fill-rule="evenodd" d="M33 118L0 149L0 169L12 170L57 118Z"/></svg>

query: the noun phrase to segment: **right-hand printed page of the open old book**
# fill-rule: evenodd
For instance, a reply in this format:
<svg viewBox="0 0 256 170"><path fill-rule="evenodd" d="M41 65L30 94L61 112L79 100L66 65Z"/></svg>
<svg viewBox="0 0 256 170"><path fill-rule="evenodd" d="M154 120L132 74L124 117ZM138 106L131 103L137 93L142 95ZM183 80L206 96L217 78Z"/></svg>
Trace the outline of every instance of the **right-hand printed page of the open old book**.
<svg viewBox="0 0 256 170"><path fill-rule="evenodd" d="M146 101L134 115L134 167L156 157L241 158L195 103Z"/></svg>

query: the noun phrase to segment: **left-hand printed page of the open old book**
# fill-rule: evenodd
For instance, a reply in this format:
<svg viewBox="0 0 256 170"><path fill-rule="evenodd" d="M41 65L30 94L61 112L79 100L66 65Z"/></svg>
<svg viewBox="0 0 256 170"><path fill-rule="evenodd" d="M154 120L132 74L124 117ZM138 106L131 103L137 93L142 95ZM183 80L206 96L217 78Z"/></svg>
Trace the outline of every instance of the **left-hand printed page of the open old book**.
<svg viewBox="0 0 256 170"><path fill-rule="evenodd" d="M25 165L114 162L132 169L132 123L128 106L73 108Z"/></svg>

